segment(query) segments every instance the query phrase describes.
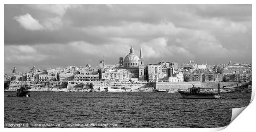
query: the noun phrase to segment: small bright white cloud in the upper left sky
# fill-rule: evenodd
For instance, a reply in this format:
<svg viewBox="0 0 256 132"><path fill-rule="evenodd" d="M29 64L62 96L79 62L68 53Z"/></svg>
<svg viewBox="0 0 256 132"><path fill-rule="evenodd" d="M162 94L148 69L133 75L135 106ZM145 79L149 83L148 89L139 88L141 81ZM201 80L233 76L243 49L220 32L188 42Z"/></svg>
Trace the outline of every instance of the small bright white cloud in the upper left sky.
<svg viewBox="0 0 256 132"><path fill-rule="evenodd" d="M34 19L30 14L25 14L25 15L21 15L21 16L15 16L14 19L16 21L19 22L19 24L27 29L27 30L31 30L31 31L35 31L35 30L43 30L44 27L43 25L41 25L39 23L39 20Z"/></svg>

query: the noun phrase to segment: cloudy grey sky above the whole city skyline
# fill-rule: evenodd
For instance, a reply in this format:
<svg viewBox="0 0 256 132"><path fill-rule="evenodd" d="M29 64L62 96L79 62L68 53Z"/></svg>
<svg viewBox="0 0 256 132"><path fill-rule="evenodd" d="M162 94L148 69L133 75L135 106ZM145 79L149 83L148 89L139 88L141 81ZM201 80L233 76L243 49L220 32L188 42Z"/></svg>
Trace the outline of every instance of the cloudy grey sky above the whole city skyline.
<svg viewBox="0 0 256 132"><path fill-rule="evenodd" d="M251 63L251 5L5 5L4 67Z"/></svg>

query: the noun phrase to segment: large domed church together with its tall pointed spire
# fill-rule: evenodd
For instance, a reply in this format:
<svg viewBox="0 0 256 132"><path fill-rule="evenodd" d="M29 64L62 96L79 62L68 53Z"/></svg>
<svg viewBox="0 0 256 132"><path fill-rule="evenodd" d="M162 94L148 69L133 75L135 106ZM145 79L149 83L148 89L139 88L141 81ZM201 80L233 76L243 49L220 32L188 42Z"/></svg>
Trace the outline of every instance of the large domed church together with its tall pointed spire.
<svg viewBox="0 0 256 132"><path fill-rule="evenodd" d="M140 57L138 57L130 48L130 53L124 58L119 58L119 68L126 69L132 74L132 80L145 80L144 78L144 59L142 56L142 48L140 47Z"/></svg>

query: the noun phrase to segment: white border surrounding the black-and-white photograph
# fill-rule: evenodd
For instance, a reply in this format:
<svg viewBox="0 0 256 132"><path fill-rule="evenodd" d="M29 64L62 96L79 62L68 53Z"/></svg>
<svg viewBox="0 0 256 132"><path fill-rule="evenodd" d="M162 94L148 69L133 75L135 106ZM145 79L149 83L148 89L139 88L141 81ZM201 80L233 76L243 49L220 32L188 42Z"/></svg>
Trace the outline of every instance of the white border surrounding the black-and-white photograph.
<svg viewBox="0 0 256 132"><path fill-rule="evenodd" d="M127 0L125 2L121 1L121 0L93 0L93 1L84 1L84 0L62 0L62 1L53 1L53 0L43 0L43 1L35 1L35 0L2 0L2 9L1 9L1 16L2 18L4 18L4 4L252 4L252 24L254 24L255 20L254 20L254 14L255 14L255 0L232 0L232 1L224 1L224 0L212 0L210 2L206 2L206 0L176 0L176 1L168 1L168 0L147 0L147 1L138 1L138 0ZM4 20L2 20L1 22L2 27L4 28ZM3 29L2 28L2 29ZM252 26L253 30L254 26ZM252 36L254 33L252 33ZM2 35L1 35L1 42L4 42L4 30L2 30ZM254 38L252 38L252 44L254 44ZM4 45L1 45L1 62L4 62ZM252 45L252 50L255 51L255 45ZM252 57L255 57L254 52L252 52ZM252 60L252 64L253 64L253 70L255 70L254 68L254 64L255 60ZM4 63L2 63L1 65L2 71L1 71L1 78L2 80L4 80ZM253 80L255 80L254 78L256 78L255 74L253 73ZM253 82L253 86L255 86L255 82ZM1 81L1 85L3 86L3 81ZM255 88L253 87L253 90ZM255 90L254 90L255 91ZM3 90L1 91L2 95L4 95ZM255 93L254 93L255 94ZM252 96L254 97L254 96ZM87 128L87 129L79 129L79 128L73 128L75 129L75 131L107 131L107 132L120 132L120 131L180 131L180 132L206 132L206 131L218 131L218 130L222 130L223 128L225 128L223 130L223 132L236 132L236 131L253 131L255 129L254 125L255 125L255 110L256 110L256 104L255 101L252 101L251 104L245 108L245 110L228 126L228 127L222 127L222 128L156 128L156 129L149 129L149 128L135 128L135 129L128 129L128 128L117 128L117 129L91 129L91 128ZM2 105L1 105L1 124L4 124L4 97L2 96ZM3 128L3 127L2 127ZM72 129L72 130L73 130ZM61 131L69 131L71 129L62 129L62 128L54 128L54 129L38 129L38 128L30 128L30 129L19 129L19 128L13 128L13 129L9 129L9 128L4 128L4 131L56 131L56 130L61 130ZM3 131L2 131L3 132Z"/></svg>

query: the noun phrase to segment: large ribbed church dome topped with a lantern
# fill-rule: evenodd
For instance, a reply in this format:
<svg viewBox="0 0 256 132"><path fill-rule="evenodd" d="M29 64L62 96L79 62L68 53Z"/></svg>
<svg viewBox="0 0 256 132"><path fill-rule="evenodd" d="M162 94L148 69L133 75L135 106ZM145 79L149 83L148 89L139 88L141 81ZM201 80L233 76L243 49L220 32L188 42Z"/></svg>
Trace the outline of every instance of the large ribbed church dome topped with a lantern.
<svg viewBox="0 0 256 132"><path fill-rule="evenodd" d="M134 54L133 47L130 48L130 53L124 58L123 62L125 67L138 66L139 57Z"/></svg>

